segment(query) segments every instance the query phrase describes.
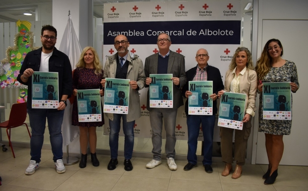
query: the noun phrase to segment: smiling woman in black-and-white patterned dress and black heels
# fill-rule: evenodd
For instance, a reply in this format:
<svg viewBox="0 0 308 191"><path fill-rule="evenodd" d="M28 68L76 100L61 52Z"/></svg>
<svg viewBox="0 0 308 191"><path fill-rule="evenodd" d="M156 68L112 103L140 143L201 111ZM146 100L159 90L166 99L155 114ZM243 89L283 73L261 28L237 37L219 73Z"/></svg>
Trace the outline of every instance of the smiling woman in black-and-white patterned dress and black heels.
<svg viewBox="0 0 308 191"><path fill-rule="evenodd" d="M265 44L261 57L257 61L256 72L260 93L259 132L265 132L265 147L268 158L268 170L263 175L265 185L271 185L278 176L278 165L283 155L283 135L291 133L291 120L263 120L262 82L291 82L291 91L299 87L296 65L281 58L283 47L278 39L271 39ZM292 103L292 96L291 96Z"/></svg>

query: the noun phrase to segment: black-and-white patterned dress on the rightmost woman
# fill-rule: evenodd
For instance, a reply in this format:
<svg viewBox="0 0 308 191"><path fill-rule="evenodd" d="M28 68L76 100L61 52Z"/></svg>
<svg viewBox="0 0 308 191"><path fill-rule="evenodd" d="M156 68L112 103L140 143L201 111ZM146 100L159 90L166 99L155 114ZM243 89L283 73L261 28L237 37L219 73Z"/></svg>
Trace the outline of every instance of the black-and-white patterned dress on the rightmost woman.
<svg viewBox="0 0 308 191"><path fill-rule="evenodd" d="M296 65L292 61L287 61L281 67L271 67L262 82L294 82L300 87ZM263 99L260 93L259 104L259 132L276 135L289 135L291 133L292 120L263 120ZM292 95L291 95L292 103Z"/></svg>

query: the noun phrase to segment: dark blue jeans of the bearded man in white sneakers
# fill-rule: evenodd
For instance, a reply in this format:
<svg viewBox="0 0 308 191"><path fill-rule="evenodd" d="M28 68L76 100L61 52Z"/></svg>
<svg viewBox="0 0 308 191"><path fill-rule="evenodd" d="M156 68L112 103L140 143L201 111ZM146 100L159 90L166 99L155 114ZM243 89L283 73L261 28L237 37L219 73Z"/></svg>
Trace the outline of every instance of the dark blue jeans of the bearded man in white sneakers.
<svg viewBox="0 0 308 191"><path fill-rule="evenodd" d="M46 128L46 118L50 134L51 150L54 154L53 160L57 162L62 159L62 133L61 126L64 110L51 112L50 109L27 109L31 126L30 155L31 160L37 163L41 162L41 150L44 142L44 133Z"/></svg>

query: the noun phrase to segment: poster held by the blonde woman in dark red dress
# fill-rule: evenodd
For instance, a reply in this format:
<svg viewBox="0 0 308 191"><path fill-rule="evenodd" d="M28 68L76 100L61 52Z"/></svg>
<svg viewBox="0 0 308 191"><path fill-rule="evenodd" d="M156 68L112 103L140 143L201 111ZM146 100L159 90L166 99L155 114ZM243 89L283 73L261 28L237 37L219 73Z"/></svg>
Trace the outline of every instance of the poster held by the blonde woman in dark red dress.
<svg viewBox="0 0 308 191"><path fill-rule="evenodd" d="M78 122L101 122L99 89L77 90Z"/></svg>

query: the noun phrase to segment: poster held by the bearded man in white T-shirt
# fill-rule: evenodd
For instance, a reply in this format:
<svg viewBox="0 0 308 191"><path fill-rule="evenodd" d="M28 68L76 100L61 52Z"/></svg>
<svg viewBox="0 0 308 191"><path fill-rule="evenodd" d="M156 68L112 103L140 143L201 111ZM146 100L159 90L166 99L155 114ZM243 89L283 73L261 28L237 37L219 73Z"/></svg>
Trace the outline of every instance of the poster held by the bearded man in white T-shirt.
<svg viewBox="0 0 308 191"><path fill-rule="evenodd" d="M57 109L58 72L35 71L32 75L32 108Z"/></svg>

